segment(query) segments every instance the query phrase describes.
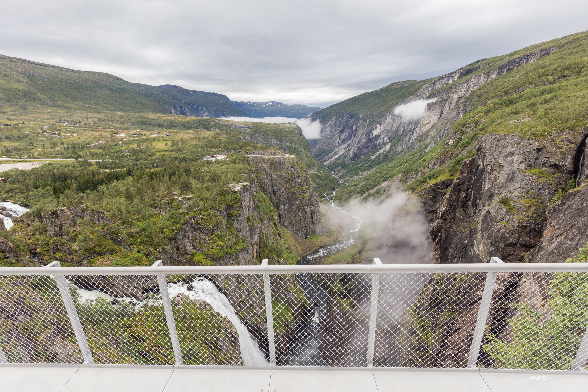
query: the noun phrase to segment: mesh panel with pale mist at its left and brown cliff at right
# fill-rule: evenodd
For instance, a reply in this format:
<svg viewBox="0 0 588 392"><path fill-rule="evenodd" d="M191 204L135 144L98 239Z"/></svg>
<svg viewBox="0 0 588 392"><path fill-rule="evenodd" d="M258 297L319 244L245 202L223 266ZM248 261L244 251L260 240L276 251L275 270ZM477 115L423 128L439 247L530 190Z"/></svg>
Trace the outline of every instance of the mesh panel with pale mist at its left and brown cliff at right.
<svg viewBox="0 0 588 392"><path fill-rule="evenodd" d="M485 273L380 274L375 366L466 367Z"/></svg>

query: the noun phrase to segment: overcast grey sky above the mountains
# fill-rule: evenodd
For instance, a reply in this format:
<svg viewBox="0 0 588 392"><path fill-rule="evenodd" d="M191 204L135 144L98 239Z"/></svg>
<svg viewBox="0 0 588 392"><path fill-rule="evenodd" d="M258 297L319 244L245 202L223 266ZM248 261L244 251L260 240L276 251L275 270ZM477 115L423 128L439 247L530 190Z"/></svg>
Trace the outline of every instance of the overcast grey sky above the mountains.
<svg viewBox="0 0 588 392"><path fill-rule="evenodd" d="M588 29L586 0L11 1L0 53L328 106Z"/></svg>

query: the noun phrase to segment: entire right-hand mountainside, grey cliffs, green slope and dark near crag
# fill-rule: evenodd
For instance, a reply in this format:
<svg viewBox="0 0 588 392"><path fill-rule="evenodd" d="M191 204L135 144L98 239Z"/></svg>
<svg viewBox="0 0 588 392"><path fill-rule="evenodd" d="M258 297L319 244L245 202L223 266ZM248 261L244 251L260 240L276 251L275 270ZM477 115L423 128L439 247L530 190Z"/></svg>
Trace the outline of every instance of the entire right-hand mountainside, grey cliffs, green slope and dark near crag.
<svg viewBox="0 0 588 392"><path fill-rule="evenodd" d="M336 198L413 192L436 262L576 254L588 240L588 32L423 82L389 109L313 113L322 123L313 152L346 182ZM404 118L415 102L422 114Z"/></svg>

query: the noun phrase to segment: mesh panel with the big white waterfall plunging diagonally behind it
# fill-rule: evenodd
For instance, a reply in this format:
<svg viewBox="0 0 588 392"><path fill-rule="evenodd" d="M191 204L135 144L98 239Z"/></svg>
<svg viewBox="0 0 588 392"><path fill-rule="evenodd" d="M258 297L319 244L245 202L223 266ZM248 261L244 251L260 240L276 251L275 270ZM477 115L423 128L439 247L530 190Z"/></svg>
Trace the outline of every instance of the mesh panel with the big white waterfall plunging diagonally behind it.
<svg viewBox="0 0 588 392"><path fill-rule="evenodd" d="M261 275L183 275L168 280L184 364L269 365Z"/></svg>

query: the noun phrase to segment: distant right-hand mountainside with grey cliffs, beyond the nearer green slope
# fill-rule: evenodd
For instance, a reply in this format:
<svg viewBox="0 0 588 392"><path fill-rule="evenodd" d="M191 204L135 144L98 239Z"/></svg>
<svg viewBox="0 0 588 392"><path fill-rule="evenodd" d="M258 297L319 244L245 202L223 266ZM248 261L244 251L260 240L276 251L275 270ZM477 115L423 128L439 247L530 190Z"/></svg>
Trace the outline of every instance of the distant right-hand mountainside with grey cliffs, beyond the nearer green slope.
<svg viewBox="0 0 588 392"><path fill-rule="evenodd" d="M405 173L405 181L412 180L414 176L410 175L424 165L418 163L423 155L427 155L427 160L435 156L440 148L437 143L447 136L452 124L470 110L469 96L473 91L490 81L501 84L508 73L554 53L549 56L551 58L558 53L558 47L566 45L564 39L482 59L440 78L392 83L319 110L310 116L322 124L322 137L313 146L313 153L319 162L350 182L350 186L343 189L346 196L339 197L363 195L400 173ZM569 48L565 48L565 52L569 52ZM565 57L557 58L563 61ZM546 79L542 83L549 82ZM380 96L382 99L376 102ZM414 102L423 106L423 115L419 118L406 119L395 113L397 108ZM356 187L355 183L362 186Z"/></svg>

